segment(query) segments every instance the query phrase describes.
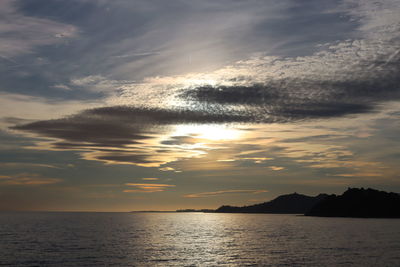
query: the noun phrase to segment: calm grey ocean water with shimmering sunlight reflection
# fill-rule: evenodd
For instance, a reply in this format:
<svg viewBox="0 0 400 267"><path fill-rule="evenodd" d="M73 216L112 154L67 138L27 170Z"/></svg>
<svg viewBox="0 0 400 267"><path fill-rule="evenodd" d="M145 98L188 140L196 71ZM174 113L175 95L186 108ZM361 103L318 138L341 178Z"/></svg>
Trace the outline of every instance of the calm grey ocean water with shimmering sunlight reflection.
<svg viewBox="0 0 400 267"><path fill-rule="evenodd" d="M400 266L400 220L3 212L0 265Z"/></svg>

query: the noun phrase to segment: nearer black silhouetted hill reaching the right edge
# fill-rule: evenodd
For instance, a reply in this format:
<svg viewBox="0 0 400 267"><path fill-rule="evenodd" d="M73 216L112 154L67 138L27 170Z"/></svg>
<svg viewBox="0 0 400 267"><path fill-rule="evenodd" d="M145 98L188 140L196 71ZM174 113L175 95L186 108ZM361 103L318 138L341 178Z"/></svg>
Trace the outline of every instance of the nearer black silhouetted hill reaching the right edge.
<svg viewBox="0 0 400 267"><path fill-rule="evenodd" d="M400 194L375 189L349 188L329 195L306 212L307 216L400 218Z"/></svg>

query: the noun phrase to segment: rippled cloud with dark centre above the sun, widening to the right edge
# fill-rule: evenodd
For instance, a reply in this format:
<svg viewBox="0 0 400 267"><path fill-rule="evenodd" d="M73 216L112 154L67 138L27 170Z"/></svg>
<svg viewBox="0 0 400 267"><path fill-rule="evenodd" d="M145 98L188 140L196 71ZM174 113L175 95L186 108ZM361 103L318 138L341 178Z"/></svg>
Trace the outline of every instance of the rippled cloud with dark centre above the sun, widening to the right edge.
<svg viewBox="0 0 400 267"><path fill-rule="evenodd" d="M400 98L400 35L393 35L341 42L311 56L241 61L204 74L215 84L188 87L179 97L199 109L245 110L278 122L369 112Z"/></svg>

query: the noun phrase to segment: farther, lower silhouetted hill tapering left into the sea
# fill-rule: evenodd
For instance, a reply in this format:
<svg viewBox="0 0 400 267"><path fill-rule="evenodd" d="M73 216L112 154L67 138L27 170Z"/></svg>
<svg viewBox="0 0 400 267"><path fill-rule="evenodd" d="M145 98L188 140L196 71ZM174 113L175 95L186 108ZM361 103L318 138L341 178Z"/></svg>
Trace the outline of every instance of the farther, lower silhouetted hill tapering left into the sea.
<svg viewBox="0 0 400 267"><path fill-rule="evenodd" d="M320 194L315 197L310 197L294 193L289 195L282 195L269 202L264 202L251 206L221 206L216 209L215 212L304 214L326 196L326 194Z"/></svg>

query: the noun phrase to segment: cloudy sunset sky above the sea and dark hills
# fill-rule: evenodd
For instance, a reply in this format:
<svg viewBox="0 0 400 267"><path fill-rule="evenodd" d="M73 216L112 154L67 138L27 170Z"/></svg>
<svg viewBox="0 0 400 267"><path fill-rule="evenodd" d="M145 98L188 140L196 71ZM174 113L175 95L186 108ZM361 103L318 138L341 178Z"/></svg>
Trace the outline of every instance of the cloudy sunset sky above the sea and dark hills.
<svg viewBox="0 0 400 267"><path fill-rule="evenodd" d="M0 210L400 192L398 0L2 0Z"/></svg>

